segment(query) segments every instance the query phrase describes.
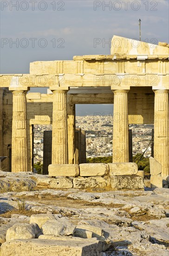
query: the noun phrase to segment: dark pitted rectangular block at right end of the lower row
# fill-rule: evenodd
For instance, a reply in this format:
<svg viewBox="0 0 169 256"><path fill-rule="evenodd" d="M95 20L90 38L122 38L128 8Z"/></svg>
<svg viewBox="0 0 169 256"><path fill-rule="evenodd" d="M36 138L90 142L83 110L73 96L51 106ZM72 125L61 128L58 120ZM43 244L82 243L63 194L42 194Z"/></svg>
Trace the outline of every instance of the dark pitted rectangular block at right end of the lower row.
<svg viewBox="0 0 169 256"><path fill-rule="evenodd" d="M111 176L112 189L143 189L143 178L138 175Z"/></svg>

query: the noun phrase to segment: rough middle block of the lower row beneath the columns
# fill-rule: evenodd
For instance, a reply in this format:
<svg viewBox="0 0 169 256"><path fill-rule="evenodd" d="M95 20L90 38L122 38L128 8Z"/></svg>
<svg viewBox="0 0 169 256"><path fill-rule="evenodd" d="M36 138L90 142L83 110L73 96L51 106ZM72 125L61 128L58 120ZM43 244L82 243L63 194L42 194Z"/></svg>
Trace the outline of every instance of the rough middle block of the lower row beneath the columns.
<svg viewBox="0 0 169 256"><path fill-rule="evenodd" d="M75 189L86 188L105 188L110 186L110 178L104 177L77 177L73 179L73 187Z"/></svg>

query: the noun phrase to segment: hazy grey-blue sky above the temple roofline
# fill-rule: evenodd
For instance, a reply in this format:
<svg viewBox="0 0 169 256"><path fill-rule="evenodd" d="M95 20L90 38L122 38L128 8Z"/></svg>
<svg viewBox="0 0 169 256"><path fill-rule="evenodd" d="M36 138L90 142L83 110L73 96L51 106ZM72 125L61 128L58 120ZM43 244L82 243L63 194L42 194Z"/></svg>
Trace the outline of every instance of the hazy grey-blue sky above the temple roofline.
<svg viewBox="0 0 169 256"><path fill-rule="evenodd" d="M0 0L0 73L29 73L32 61L110 54L114 34L139 38L139 19L143 41L169 42L169 0Z"/></svg>

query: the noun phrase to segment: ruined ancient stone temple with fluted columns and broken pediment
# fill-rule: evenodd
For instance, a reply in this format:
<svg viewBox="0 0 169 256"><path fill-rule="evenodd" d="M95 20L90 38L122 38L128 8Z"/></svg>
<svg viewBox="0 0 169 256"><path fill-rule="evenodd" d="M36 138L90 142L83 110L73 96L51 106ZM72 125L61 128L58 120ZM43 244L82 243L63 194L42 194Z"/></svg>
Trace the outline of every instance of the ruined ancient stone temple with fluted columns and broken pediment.
<svg viewBox="0 0 169 256"><path fill-rule="evenodd" d="M29 93L49 88L48 94ZM154 158L169 175L169 46L114 36L110 55L36 61L0 75L0 156L32 170L32 124L52 124L52 166L75 159L75 104L114 104L113 163L129 162L129 124L154 123Z"/></svg>

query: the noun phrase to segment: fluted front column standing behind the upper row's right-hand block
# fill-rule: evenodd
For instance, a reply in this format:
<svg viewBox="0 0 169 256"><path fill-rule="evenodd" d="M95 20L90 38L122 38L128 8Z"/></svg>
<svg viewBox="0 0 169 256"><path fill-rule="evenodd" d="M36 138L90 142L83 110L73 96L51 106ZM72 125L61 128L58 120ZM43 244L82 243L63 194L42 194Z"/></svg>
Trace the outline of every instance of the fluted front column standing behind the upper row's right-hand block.
<svg viewBox="0 0 169 256"><path fill-rule="evenodd" d="M114 90L113 92L113 162L129 162L129 90Z"/></svg>

